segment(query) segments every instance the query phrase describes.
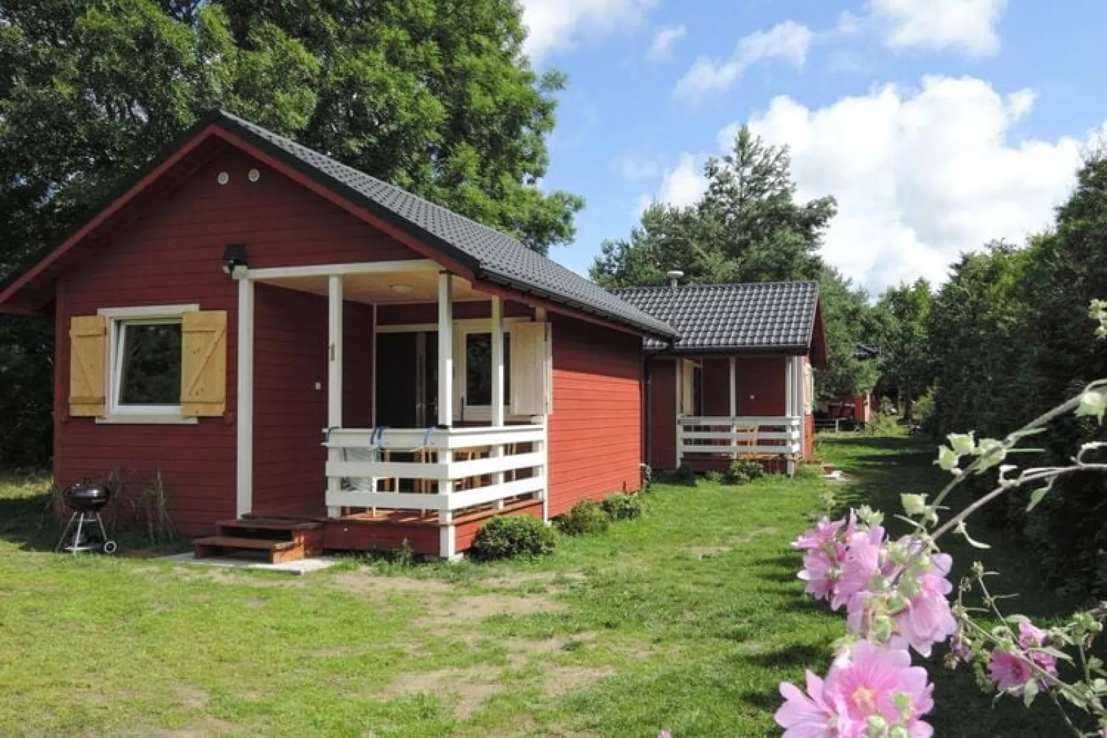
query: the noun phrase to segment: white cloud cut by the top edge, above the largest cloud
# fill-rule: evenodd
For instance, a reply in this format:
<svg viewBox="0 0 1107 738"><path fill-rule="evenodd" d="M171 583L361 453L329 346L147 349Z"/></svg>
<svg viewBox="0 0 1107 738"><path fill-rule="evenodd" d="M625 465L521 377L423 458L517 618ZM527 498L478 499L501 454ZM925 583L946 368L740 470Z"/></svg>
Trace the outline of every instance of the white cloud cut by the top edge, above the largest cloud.
<svg viewBox="0 0 1107 738"><path fill-rule="evenodd" d="M870 19L891 49L958 49L973 56L1000 50L996 25L1006 0L869 0Z"/></svg>

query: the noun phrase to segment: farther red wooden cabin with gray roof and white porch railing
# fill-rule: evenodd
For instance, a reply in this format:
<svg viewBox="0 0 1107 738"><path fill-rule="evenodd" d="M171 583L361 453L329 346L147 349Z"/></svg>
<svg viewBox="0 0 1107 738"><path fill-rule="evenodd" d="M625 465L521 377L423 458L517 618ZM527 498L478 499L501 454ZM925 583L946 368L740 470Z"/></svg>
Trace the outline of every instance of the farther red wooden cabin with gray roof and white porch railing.
<svg viewBox="0 0 1107 738"><path fill-rule="evenodd" d="M724 471L748 457L792 474L813 457L814 368L827 358L816 282L615 293L681 334L645 342L652 467Z"/></svg>

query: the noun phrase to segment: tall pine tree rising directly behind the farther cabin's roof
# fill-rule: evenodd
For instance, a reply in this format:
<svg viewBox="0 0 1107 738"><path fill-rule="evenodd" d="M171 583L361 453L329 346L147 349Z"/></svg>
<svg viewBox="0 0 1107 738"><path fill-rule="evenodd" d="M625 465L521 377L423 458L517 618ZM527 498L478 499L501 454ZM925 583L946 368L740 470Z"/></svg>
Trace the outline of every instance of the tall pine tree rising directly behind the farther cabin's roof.
<svg viewBox="0 0 1107 738"><path fill-rule="evenodd" d="M819 257L832 197L796 199L787 147L742 127L731 152L704 167L707 189L695 205L654 204L627 239L606 241L592 264L604 287L663 284L681 270L691 283L818 280L830 365L816 374L821 398L867 392L876 367L858 361L871 340L868 295Z"/></svg>

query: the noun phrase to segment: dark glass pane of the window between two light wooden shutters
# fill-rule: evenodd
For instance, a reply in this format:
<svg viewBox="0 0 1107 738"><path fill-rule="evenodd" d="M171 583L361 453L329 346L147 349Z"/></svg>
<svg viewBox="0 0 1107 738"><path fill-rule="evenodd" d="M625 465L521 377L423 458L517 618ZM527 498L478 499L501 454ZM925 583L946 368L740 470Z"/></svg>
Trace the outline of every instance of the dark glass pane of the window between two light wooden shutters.
<svg viewBox="0 0 1107 738"><path fill-rule="evenodd" d="M124 323L120 405L180 404L180 323Z"/></svg>

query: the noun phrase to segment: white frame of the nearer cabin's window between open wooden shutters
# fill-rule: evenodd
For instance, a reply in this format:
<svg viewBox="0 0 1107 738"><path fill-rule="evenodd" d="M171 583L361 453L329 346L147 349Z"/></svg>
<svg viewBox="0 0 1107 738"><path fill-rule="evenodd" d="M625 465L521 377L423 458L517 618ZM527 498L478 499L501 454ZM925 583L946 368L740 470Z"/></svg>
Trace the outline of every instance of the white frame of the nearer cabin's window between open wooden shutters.
<svg viewBox="0 0 1107 738"><path fill-rule="evenodd" d="M96 314L107 319L107 362L104 381L106 383L105 415L97 423L135 424L182 424L194 425L197 418L180 415L180 404L176 405L121 405L120 380L122 377L123 331L127 325L161 325L182 322L185 313L198 312L198 304L144 305L141 308L101 308ZM184 342L184 334L182 334ZM182 346L184 349L184 346Z"/></svg>

